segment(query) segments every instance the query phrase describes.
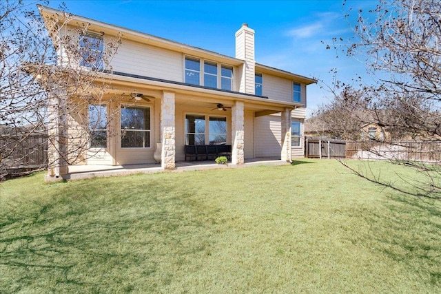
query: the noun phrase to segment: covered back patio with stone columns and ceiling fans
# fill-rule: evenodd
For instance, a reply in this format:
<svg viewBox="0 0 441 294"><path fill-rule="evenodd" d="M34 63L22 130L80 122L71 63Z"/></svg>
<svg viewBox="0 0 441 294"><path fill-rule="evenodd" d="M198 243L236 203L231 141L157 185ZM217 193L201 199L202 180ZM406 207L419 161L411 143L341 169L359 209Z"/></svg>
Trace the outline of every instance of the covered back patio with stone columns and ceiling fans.
<svg viewBox="0 0 441 294"><path fill-rule="evenodd" d="M77 102L68 98L68 95L54 93L50 99L54 105L54 119L51 121L55 125L52 129L57 132L50 134L51 164L46 181L165 170L223 168L214 162L183 162L185 145L211 144L212 135L222 137L223 144L232 145L229 167L267 161L260 160L267 156L277 156L276 161L291 162L291 110L298 106L295 103L269 101L267 97L170 83L141 76L108 76L112 76L110 81L107 81L112 87L106 90L105 94L98 96L96 101L85 100L85 103L76 105L77 108L83 107L81 115L70 118L71 114L65 110L66 105L68 101L72 101L73 105ZM90 116L88 118L88 109L89 115L91 113L90 107L100 107L104 113L103 120L108 118L107 123L103 123L103 127L97 131L105 134L105 140L102 146L92 148L90 145L89 148L83 147L75 151L72 147L76 146L76 140L84 145L89 138L88 121L101 121L100 116L99 119L91 119ZM143 121L137 125L144 127L135 131L145 134L145 145L126 146L125 136L133 132L125 127L124 116L136 115L138 112L143 112L143 115L136 118L142 118ZM280 138L272 139L278 151L276 154L258 155L254 152L258 147L254 133L260 134L270 130L258 130L256 122L262 117L276 113L280 114L277 124L281 132L278 134ZM196 127L191 129L192 118L194 123L202 122L205 126L201 132ZM223 132L212 132L212 123L223 123ZM187 124L190 124L190 127L187 127ZM93 133L93 128L91 129ZM70 137L74 136L75 132L79 132L79 135L72 140ZM195 138L198 136L202 137L202 141L196 143ZM155 142L161 145L155 145ZM158 148L159 150L156 150ZM161 160L158 161L161 165L154 164L154 151L159 151ZM65 160L72 154L77 160ZM74 165L68 165L68 162L73 161Z"/></svg>

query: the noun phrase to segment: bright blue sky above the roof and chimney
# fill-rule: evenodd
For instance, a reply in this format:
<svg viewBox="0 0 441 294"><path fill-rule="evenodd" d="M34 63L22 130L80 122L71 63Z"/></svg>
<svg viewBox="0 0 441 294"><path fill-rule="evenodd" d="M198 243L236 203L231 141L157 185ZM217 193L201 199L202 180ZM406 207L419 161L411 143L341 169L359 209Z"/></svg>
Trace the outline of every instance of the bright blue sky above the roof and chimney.
<svg viewBox="0 0 441 294"><path fill-rule="evenodd" d="M57 8L57 1L50 7ZM220 54L234 56L234 33L242 23L256 31L256 62L321 79L331 84L329 70L350 81L365 67L335 50L334 36L351 36L341 0L322 1L65 1L68 11L90 19L161 36ZM371 8L377 1L347 1ZM320 85L307 88L309 114L327 101Z"/></svg>

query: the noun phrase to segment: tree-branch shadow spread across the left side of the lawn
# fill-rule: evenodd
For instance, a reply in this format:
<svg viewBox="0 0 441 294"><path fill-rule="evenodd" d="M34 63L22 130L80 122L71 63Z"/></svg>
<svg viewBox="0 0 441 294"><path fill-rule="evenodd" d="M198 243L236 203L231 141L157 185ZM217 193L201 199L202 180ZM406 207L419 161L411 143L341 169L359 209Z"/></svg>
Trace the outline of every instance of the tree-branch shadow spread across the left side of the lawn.
<svg viewBox="0 0 441 294"><path fill-rule="evenodd" d="M100 189L94 183L81 183L81 191L66 186L52 200L11 205L0 221L3 291L125 291L136 285L127 273L148 280L164 264L185 267L177 261L207 251L209 238L203 237L213 211L198 207L191 189L150 180L138 189L152 192L123 195L112 183L106 189L116 192L104 197L94 194Z"/></svg>

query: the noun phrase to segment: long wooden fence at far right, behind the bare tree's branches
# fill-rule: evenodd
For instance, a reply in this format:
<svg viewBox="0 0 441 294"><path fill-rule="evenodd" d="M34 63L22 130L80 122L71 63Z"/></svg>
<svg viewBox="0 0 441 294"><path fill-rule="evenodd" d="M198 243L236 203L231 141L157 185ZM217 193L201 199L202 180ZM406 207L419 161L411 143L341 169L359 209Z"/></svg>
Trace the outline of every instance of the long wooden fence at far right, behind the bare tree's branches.
<svg viewBox="0 0 441 294"><path fill-rule="evenodd" d="M395 143L347 142L346 158L440 162L441 143L417 140Z"/></svg>

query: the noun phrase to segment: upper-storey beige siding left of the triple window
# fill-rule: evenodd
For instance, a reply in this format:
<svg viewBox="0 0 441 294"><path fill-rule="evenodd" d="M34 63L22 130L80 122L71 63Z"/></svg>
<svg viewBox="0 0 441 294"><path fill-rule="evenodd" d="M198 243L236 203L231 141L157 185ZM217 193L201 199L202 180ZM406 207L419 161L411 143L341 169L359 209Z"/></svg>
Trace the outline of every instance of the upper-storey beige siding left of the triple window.
<svg viewBox="0 0 441 294"><path fill-rule="evenodd" d="M123 39L112 59L112 70L140 76L183 81L183 57L181 53L143 45Z"/></svg>

